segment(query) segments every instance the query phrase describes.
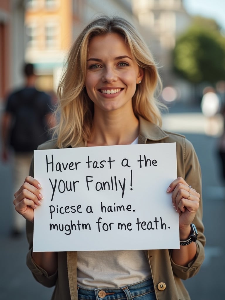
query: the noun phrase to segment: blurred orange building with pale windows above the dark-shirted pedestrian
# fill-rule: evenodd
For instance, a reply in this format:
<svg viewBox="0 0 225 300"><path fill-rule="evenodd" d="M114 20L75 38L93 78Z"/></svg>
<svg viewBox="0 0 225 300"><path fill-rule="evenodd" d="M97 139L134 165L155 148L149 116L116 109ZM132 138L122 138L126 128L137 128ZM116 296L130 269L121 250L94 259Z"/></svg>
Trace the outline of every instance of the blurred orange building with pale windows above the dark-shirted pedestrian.
<svg viewBox="0 0 225 300"><path fill-rule="evenodd" d="M72 39L72 0L28 0L25 12L25 60L35 64L38 87L56 89Z"/></svg>

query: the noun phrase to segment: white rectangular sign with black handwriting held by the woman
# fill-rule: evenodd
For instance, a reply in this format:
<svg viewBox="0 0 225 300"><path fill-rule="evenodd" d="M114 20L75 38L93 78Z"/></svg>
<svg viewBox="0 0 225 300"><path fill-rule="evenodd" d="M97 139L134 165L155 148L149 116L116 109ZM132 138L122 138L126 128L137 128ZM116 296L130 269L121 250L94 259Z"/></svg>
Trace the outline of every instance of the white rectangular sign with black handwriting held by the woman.
<svg viewBox="0 0 225 300"><path fill-rule="evenodd" d="M176 143L35 150L34 251L179 248Z"/></svg>

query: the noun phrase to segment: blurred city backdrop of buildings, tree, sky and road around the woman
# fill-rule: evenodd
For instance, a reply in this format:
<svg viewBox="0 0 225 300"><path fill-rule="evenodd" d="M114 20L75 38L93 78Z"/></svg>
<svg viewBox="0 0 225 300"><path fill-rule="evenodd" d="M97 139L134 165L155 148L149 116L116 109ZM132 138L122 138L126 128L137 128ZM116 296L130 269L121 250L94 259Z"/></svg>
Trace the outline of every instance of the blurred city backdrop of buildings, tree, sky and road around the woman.
<svg viewBox="0 0 225 300"><path fill-rule="evenodd" d="M184 282L192 300L224 299L225 292L225 187L219 156L224 11L224 0L0 0L0 119L8 93L23 84L24 62L35 65L37 88L56 101L65 55L99 13L125 17L145 39L163 80L160 100L168 107L163 128L193 143L202 168L206 258L199 273ZM0 182L0 299L50 299L52 289L36 283L26 267L25 235L10 236L11 161L0 161Z"/></svg>

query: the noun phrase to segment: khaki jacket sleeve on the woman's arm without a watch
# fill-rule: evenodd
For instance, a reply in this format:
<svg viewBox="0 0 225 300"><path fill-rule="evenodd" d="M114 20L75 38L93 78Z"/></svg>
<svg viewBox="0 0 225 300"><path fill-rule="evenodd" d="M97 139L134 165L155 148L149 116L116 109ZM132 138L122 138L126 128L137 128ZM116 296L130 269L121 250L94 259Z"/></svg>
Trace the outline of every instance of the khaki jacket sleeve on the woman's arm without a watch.
<svg viewBox="0 0 225 300"><path fill-rule="evenodd" d="M32 158L30 166L30 176L34 177L34 158ZM32 222L26 221L26 235L29 243L29 252L27 253L26 263L30 271L32 272L35 279L44 286L51 287L54 286L58 279L58 271L55 274L49 276L47 272L40 268L32 258L33 250L33 234L34 233L34 224Z"/></svg>

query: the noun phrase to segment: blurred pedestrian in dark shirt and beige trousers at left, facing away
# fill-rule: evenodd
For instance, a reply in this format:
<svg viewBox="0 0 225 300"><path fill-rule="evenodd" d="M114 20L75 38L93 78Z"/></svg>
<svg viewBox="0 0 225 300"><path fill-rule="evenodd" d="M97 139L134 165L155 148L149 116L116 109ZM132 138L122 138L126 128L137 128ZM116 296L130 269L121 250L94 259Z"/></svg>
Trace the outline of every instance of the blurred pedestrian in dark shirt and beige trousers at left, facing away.
<svg viewBox="0 0 225 300"><path fill-rule="evenodd" d="M1 126L2 159L8 161L13 156L13 195L29 174L33 150L48 140L48 126L54 123L50 96L35 88L33 64L26 63L23 74L25 85L7 97ZM12 235L20 236L25 224L13 206Z"/></svg>

